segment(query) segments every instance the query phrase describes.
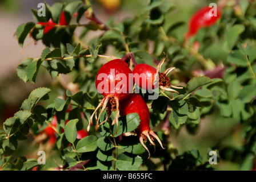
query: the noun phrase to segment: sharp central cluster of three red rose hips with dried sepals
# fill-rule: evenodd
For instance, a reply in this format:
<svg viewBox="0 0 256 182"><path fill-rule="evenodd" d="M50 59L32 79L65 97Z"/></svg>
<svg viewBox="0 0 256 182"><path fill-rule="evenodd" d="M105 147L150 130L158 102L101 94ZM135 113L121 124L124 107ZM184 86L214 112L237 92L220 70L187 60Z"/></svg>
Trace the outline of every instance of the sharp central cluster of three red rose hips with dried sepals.
<svg viewBox="0 0 256 182"><path fill-rule="evenodd" d="M132 53L129 53L129 58L132 57ZM132 58L134 59L134 57ZM129 60L129 59L128 59ZM135 60L135 59L134 59ZM147 139L149 139L150 143L155 146L153 142L154 138L158 140L159 144L162 148L162 142L158 138L158 136L150 129L150 111L147 106L145 100L141 96L141 94L133 93L134 83L137 84L140 88L145 90L153 90L156 89L156 85L159 85L160 89L167 90L170 92L177 92L172 88L181 89L181 87L177 87L170 84L170 78L167 76L173 68L167 69L165 72L161 73L161 67L165 61L165 56L163 57L161 63L159 63L157 69L151 67L148 64L134 64L134 69L131 71L128 64L126 63L127 56L124 56L122 59L114 59L106 64L102 65L99 69L95 86L99 93L101 93L104 97L102 101L99 103L94 113L91 115L89 120L89 126L87 127L87 131L90 130L90 126L93 125L93 117L95 115L96 130L99 126L105 123L111 113L116 111L115 118L112 125L117 125L118 127L118 117L119 115L125 116L131 113L137 113L141 120L137 129L135 129L135 134L139 136L139 141L142 146L149 152L148 148L145 146ZM145 74L146 73L146 74ZM101 75L105 74L106 77L103 78ZM122 76L121 76L122 75ZM136 79L135 77L130 77L130 75L140 75L140 79ZM124 79L125 77L125 79ZM111 87L111 85L114 85ZM145 85L150 85L149 87ZM148 89L149 88L149 89ZM97 111L101 108L99 115L97 116ZM99 117L106 109L108 116L105 121L99 123ZM150 156L150 152L149 152Z"/></svg>

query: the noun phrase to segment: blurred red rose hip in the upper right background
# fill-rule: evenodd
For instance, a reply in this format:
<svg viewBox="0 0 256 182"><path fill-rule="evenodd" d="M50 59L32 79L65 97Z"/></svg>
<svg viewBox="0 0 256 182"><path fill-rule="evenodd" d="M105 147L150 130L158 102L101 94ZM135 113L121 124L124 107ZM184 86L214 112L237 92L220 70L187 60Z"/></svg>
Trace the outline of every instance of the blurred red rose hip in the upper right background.
<svg viewBox="0 0 256 182"><path fill-rule="evenodd" d="M202 27L210 27L221 18L221 10L217 9L217 16L210 16L209 12L212 7L202 7L198 10L190 19L189 33L187 36L193 36L197 34L198 30Z"/></svg>

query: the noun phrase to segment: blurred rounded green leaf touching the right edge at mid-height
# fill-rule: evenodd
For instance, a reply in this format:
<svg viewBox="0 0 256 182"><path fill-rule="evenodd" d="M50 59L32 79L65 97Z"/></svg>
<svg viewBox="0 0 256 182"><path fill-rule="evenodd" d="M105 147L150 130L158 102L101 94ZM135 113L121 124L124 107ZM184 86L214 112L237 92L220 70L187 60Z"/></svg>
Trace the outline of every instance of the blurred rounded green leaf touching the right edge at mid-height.
<svg viewBox="0 0 256 182"><path fill-rule="evenodd" d="M255 85L245 85L243 86L241 92L239 93L239 98L243 103L249 103L256 96L256 86Z"/></svg>

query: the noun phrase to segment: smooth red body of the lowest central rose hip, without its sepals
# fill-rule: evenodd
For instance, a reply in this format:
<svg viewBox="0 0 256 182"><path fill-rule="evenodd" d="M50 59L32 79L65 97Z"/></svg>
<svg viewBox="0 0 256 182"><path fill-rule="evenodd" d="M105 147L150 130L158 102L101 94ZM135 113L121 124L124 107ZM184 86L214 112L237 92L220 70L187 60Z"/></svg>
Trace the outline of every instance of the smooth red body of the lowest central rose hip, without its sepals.
<svg viewBox="0 0 256 182"><path fill-rule="evenodd" d="M121 117L131 113L138 113L139 119L141 119L141 122L139 123L138 128L135 130L135 133L139 135L143 131L150 130L149 107L147 107L145 100L140 94L133 93L129 98L121 102Z"/></svg>

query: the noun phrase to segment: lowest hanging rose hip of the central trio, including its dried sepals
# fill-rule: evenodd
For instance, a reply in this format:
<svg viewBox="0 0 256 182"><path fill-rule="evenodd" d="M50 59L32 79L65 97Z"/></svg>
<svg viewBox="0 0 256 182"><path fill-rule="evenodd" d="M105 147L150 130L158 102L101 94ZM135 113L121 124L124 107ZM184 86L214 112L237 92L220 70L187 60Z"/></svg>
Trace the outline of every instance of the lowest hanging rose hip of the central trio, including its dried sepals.
<svg viewBox="0 0 256 182"><path fill-rule="evenodd" d="M149 149L146 147L144 143L146 142L147 138L149 139L149 142L153 144L154 147L155 147L155 143L153 142L153 140L154 138L157 139L161 147L165 149L162 145L161 140L150 129L149 107L147 107L145 100L142 98L140 94L133 93L129 98L127 98L124 101L121 101L121 109L120 109L121 117L131 113L138 113L139 119L141 119L141 122L139 123L138 128L135 129L135 133L139 136L139 141L141 142L142 146L147 150L147 152L149 152ZM149 152L149 158L150 158L150 152Z"/></svg>

